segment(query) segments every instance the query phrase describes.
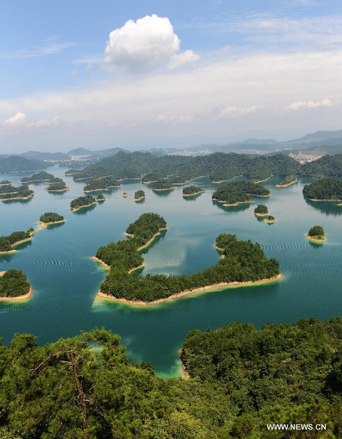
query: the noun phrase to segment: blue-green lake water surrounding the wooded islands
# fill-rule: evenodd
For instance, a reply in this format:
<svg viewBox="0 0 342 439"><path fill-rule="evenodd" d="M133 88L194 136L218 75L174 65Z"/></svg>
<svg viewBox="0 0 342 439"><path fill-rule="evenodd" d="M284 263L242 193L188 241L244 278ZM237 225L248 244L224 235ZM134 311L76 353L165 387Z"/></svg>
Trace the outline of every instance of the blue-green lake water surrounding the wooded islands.
<svg viewBox="0 0 342 439"><path fill-rule="evenodd" d="M64 178L63 168L49 168ZM25 174L0 175L16 185ZM70 190L49 194L44 184L31 184L29 200L0 203L0 235L37 226L46 211L64 215L64 224L37 232L31 242L17 246L17 253L0 255L0 271L18 268L26 273L33 294L25 302L0 302L0 336L8 343L14 332L29 332L44 344L59 337L76 335L81 329L104 326L118 333L133 361L151 361L164 377L180 375L177 351L188 331L228 324L232 320L292 322L302 317L330 319L342 314L342 206L331 202L305 201L301 179L286 188L276 188L279 178L264 182L268 199L222 207L212 193L182 197L182 189L153 193L150 185L126 180L121 188L105 191L102 204L72 213L70 200L83 195L84 182L64 180ZM208 179L195 184L207 190L218 185ZM189 183L193 184L193 183ZM146 199L133 202L143 189ZM121 194L129 194L124 199ZM96 193L94 193L96 194ZM265 203L275 224L256 218L256 203ZM90 259L100 245L124 239L128 224L143 212L156 212L167 220L169 230L144 251L144 273L190 275L214 265L219 254L214 241L219 233L234 233L239 239L258 241L267 257L280 261L283 278L258 286L229 287L191 295L149 307L132 307L96 297L106 270ZM305 238L312 225L321 224L324 244Z"/></svg>

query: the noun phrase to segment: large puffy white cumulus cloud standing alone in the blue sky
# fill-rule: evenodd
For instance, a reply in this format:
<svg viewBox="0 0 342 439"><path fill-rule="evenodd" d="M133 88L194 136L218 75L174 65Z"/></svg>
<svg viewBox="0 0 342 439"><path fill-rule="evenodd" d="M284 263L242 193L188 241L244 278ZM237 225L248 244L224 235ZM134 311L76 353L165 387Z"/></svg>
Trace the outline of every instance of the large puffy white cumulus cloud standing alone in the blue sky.
<svg viewBox="0 0 342 439"><path fill-rule="evenodd" d="M128 20L110 32L105 63L142 71L166 64L174 69L200 58L192 50L179 52L179 49L180 40L170 20L147 15L136 21Z"/></svg>

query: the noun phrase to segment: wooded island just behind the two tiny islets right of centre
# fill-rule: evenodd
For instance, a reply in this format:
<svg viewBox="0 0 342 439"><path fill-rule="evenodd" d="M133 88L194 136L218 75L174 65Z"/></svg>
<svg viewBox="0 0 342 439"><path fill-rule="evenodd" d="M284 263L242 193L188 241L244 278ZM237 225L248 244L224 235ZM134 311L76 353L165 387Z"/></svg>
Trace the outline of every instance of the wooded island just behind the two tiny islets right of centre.
<svg viewBox="0 0 342 439"><path fill-rule="evenodd" d="M242 180L219 186L212 196L214 201L224 202L224 205L235 206L238 203L251 203L251 195L269 197L271 192L264 186L252 181Z"/></svg>

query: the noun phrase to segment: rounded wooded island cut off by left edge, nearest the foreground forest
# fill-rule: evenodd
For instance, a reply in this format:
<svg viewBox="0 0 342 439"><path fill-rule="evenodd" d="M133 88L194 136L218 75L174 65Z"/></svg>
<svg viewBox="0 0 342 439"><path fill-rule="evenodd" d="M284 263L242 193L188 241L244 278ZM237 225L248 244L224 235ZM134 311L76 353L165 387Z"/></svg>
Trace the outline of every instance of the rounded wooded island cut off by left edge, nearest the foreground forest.
<svg viewBox="0 0 342 439"><path fill-rule="evenodd" d="M31 293L31 285L21 270L0 272L0 300L24 300Z"/></svg>

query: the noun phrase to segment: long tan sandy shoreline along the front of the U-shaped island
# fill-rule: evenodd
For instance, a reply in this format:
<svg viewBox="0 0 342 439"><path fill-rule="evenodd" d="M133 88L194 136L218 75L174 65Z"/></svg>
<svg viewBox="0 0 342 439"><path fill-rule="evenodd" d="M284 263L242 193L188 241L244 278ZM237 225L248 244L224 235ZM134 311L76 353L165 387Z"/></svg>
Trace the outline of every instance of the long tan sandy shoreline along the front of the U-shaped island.
<svg viewBox="0 0 342 439"><path fill-rule="evenodd" d="M109 296L105 293L102 293L101 291L97 292L97 295L99 297L102 297L103 299L109 299L109 300L114 300L116 302L122 302L122 303L127 303L129 305L134 305L134 306L148 306L148 305L156 305L158 303L163 303L166 302L168 300L172 300L172 299L179 299L181 297L184 296L188 296L190 294L194 294L194 293L200 293L206 290L213 290L215 288L221 288L221 287L226 287L226 286L242 286L242 285L257 285L257 284L261 284L261 283L265 283L265 282L271 282L273 280L278 280L281 278L281 275L279 274L278 276L274 277L274 278L269 278L269 279L260 279L260 280L256 280L256 281L246 281L246 282L221 282L221 283L216 283L214 285L208 285L205 287L200 287L200 288L194 288L193 290L186 290L186 291L181 291L180 293L176 293L176 294L172 294L171 296L165 298L165 299L158 299L158 300L153 300L151 302L144 302L142 300L127 300L127 299L117 299L114 296Z"/></svg>

